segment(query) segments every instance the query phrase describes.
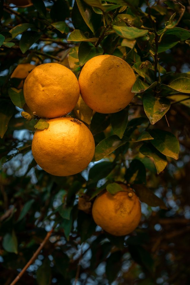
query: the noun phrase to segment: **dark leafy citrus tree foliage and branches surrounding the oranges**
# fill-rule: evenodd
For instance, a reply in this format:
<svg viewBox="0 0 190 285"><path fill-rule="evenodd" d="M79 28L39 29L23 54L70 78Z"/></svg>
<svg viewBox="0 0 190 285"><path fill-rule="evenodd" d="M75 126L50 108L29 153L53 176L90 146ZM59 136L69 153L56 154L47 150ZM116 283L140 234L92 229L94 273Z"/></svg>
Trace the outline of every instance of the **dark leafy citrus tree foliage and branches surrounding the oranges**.
<svg viewBox="0 0 190 285"><path fill-rule="evenodd" d="M189 2L9 2L0 1L1 284L18 274L12 284L189 284ZM19 64L55 62L78 78L102 54L132 67L134 99L113 114L79 101L69 116L94 135L93 162L50 175L31 154L45 119L25 105L26 75L12 74ZM115 237L96 226L91 208L121 182L139 197L142 218Z"/></svg>

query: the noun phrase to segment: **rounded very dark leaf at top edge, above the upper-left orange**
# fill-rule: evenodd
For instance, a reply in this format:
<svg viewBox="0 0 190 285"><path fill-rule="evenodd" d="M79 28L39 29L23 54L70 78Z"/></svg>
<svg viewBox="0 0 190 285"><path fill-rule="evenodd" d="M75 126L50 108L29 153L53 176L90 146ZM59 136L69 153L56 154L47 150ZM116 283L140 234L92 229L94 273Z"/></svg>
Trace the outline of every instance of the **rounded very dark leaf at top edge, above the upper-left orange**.
<svg viewBox="0 0 190 285"><path fill-rule="evenodd" d="M65 18L70 16L68 1L57 0L54 2L50 10L50 16L53 21L64 21Z"/></svg>

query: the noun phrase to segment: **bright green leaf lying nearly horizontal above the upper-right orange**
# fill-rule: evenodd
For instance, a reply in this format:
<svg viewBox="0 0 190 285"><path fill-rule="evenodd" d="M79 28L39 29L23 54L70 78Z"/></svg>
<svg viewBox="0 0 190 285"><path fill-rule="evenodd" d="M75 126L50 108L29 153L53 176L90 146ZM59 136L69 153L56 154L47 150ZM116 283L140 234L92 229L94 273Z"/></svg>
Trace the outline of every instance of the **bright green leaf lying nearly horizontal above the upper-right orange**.
<svg viewBox="0 0 190 285"><path fill-rule="evenodd" d="M148 30L140 30L135 27L124 27L124 26L112 26L112 29L122 38L125 39L137 39L148 34Z"/></svg>

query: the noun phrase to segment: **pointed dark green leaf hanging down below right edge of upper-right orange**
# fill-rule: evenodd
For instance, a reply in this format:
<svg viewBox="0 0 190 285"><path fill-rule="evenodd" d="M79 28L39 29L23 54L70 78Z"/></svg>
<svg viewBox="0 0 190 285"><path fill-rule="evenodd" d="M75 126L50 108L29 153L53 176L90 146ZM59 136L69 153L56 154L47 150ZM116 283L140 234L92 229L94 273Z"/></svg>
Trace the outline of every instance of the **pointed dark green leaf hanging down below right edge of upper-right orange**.
<svg viewBox="0 0 190 285"><path fill-rule="evenodd" d="M128 123L128 108L111 114L111 125L114 133L122 139Z"/></svg>

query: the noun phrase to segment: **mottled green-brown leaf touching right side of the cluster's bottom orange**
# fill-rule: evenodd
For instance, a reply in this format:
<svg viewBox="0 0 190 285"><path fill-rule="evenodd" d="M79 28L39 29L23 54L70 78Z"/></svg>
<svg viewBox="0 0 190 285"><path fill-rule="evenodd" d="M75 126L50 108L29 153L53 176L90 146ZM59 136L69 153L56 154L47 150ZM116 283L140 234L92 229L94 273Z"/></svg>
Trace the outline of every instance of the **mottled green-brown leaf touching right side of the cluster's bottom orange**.
<svg viewBox="0 0 190 285"><path fill-rule="evenodd" d="M117 135L113 135L102 140L95 147L94 158L92 161L98 161L108 154L115 151L115 149L119 148L121 145L124 145L126 142L122 141L118 138Z"/></svg>

